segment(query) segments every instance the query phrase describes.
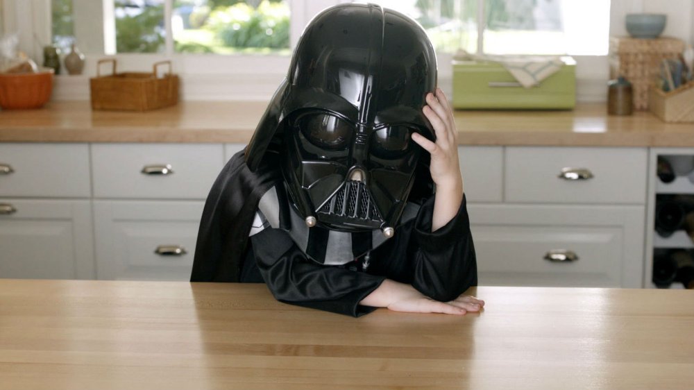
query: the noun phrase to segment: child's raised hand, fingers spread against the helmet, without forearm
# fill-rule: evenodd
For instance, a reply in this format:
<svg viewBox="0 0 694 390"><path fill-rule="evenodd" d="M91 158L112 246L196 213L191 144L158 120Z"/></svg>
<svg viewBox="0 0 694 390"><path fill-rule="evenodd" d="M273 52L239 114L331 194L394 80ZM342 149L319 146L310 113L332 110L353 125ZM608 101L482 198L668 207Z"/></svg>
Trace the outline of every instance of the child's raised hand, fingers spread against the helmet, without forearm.
<svg viewBox="0 0 694 390"><path fill-rule="evenodd" d="M436 142L431 142L418 133L412 135L412 140L430 153L430 171L437 187L459 187L462 185L462 178L458 163L458 132L450 104L441 88L437 88L435 96L427 94L426 101L423 112L434 127Z"/></svg>

